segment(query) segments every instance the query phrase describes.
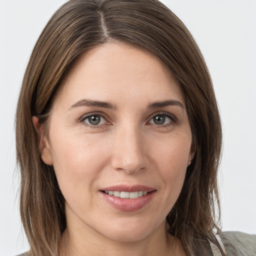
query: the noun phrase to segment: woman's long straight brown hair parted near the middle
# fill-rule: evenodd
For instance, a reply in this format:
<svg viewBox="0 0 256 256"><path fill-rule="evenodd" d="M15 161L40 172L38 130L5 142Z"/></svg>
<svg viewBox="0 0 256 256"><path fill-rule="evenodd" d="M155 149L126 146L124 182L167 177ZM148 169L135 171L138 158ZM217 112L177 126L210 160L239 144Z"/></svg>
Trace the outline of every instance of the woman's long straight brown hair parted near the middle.
<svg viewBox="0 0 256 256"><path fill-rule="evenodd" d="M212 82L191 34L157 0L70 0L50 18L29 59L16 111L20 214L31 255L57 255L66 227L64 198L52 166L40 158L32 116L47 121L55 91L78 56L113 39L152 52L178 80L195 155L166 217L188 255L208 255L219 231L217 168L221 126ZM223 254L224 255L224 254Z"/></svg>

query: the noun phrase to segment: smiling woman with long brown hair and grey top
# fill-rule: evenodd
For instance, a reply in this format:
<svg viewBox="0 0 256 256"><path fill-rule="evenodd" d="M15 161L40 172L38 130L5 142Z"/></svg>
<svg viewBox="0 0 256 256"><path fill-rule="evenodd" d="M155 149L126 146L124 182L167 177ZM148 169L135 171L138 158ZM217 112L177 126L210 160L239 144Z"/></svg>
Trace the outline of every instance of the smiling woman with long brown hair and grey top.
<svg viewBox="0 0 256 256"><path fill-rule="evenodd" d="M214 91L190 33L158 1L55 12L24 75L16 145L28 255L253 253L255 237L221 233L214 218Z"/></svg>

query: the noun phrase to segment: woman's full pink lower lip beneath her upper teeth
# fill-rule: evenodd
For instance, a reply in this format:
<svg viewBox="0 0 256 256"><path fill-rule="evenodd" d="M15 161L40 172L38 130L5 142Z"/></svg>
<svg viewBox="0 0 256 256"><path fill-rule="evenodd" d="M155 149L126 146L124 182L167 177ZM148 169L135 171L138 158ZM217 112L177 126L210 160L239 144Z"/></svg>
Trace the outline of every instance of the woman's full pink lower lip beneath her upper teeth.
<svg viewBox="0 0 256 256"><path fill-rule="evenodd" d="M109 195L100 191L103 198L110 203L114 208L122 211L136 211L146 206L154 195L154 191L147 193L146 195L137 198L121 198L113 195Z"/></svg>

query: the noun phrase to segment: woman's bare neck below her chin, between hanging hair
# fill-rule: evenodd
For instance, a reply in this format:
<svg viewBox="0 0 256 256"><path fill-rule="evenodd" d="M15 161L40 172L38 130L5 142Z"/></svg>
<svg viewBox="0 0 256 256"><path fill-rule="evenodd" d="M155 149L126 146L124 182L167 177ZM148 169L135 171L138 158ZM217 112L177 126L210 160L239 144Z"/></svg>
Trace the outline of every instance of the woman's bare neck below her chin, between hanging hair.
<svg viewBox="0 0 256 256"><path fill-rule="evenodd" d="M165 231L162 223L154 233L149 236L130 242L109 239L95 230L90 233L81 233L66 228L63 232L59 246L60 256L185 256L180 241Z"/></svg>

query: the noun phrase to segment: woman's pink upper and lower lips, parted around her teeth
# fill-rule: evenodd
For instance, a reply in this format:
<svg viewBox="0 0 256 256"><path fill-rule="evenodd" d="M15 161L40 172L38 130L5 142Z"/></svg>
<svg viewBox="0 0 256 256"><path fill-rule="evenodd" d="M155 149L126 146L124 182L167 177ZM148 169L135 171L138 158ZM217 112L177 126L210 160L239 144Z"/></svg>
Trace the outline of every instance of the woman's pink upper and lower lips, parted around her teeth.
<svg viewBox="0 0 256 256"><path fill-rule="evenodd" d="M124 191L124 192L135 192L135 191L147 191L146 195L137 197L137 198L121 198L116 197L113 195L109 195L104 193L103 191ZM143 207L145 207L153 198L155 193L155 189L145 185L133 185L133 186L126 186L126 185L115 185L104 187L99 190L100 195L103 199L109 203L115 209L121 211L136 211Z"/></svg>

